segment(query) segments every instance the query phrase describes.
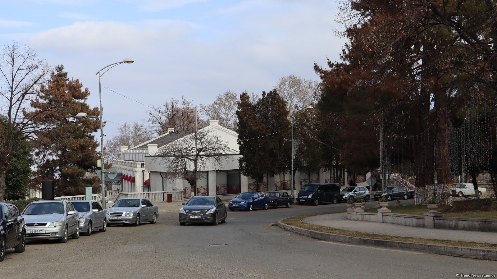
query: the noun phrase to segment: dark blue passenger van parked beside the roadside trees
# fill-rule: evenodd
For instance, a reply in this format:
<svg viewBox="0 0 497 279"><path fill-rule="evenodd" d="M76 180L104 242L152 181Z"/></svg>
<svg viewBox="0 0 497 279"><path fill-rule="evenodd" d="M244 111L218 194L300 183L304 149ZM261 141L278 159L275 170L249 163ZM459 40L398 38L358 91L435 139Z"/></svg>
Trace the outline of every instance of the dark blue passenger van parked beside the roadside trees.
<svg viewBox="0 0 497 279"><path fill-rule="evenodd" d="M312 203L314 205L322 202L333 204L341 200L340 186L338 183L313 183L302 186L297 196L299 204Z"/></svg>

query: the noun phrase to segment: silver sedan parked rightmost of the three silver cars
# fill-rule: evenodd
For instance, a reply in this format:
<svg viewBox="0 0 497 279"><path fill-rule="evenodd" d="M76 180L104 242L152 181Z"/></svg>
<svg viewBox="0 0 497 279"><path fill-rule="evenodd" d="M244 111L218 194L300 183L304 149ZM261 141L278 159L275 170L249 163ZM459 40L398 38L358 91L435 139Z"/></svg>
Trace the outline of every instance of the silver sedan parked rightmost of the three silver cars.
<svg viewBox="0 0 497 279"><path fill-rule="evenodd" d="M159 209L146 198L121 198L107 209L109 224L133 224L139 226L143 221L157 222Z"/></svg>

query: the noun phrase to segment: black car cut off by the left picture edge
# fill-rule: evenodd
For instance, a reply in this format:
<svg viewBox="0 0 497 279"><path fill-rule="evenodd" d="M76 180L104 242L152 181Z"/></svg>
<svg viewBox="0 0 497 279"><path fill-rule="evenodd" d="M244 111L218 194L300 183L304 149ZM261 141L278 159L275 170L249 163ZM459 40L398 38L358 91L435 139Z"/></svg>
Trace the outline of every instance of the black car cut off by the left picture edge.
<svg viewBox="0 0 497 279"><path fill-rule="evenodd" d="M26 223L11 203L0 202L0 262L5 259L7 249L14 248L16 253L26 249Z"/></svg>

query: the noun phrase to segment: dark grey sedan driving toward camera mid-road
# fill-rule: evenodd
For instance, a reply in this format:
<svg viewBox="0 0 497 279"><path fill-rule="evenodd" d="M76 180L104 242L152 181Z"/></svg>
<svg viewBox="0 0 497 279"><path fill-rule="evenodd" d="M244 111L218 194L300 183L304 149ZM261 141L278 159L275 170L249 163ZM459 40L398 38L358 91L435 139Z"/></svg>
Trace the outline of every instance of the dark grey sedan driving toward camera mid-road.
<svg viewBox="0 0 497 279"><path fill-rule="evenodd" d="M226 205L217 196L194 196L179 210L179 224L211 223L217 225L219 221L226 223L228 214Z"/></svg>

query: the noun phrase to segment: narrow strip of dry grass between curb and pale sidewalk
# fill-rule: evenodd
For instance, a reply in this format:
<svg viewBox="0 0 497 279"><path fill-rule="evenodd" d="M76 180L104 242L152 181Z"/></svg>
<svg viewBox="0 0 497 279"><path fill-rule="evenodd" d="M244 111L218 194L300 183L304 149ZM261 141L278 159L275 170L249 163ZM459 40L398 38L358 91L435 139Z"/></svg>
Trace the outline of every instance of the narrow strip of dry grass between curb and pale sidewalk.
<svg viewBox="0 0 497 279"><path fill-rule="evenodd" d="M372 239L393 240L393 241L402 241L402 242L414 242L414 243L423 243L423 244L436 244L436 245L445 245L445 246L497 249L497 244L438 240L438 239L415 238L415 237L400 237L400 236L391 236L391 235L363 233L363 232L357 232L357 231L335 229L335 228L331 228L331 227L313 225L313 224L308 224L308 223L302 222L302 219L304 219L306 217L323 215L323 214L330 214L330 213L340 213L340 212L325 212L325 213L299 215L299 216L294 216L294 217L283 219L283 220L281 220L281 222L284 224L290 225L290 226L299 227L299 228L303 228L303 229L324 232L324 233L345 235L345 236L360 237L360 238L372 238Z"/></svg>

